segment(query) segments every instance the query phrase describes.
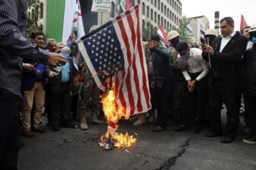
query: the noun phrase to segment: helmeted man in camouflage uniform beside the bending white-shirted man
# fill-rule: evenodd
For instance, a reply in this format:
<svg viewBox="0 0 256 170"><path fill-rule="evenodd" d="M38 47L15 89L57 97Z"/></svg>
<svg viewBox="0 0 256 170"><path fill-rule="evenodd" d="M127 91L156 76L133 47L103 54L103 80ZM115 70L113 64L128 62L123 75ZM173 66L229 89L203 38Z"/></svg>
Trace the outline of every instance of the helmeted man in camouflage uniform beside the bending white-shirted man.
<svg viewBox="0 0 256 170"><path fill-rule="evenodd" d="M173 117L180 122L187 83L182 74L182 71L186 69L186 66L185 64L182 64L180 60L177 59L178 52L175 49L175 46L179 43L179 36L180 35L177 31L170 31L167 34L168 40L170 41L170 44L172 44L172 47L170 47L169 50L173 62L171 63L171 67L174 76L173 96L171 100L171 113Z"/></svg>

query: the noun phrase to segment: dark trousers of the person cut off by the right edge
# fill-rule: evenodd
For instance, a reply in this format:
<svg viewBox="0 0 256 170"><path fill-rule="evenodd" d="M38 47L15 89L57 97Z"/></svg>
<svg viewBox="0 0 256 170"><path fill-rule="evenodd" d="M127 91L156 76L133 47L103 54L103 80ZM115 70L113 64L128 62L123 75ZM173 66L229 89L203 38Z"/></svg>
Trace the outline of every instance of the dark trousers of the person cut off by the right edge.
<svg viewBox="0 0 256 170"><path fill-rule="evenodd" d="M256 135L256 97L244 96L244 110L246 123L252 134Z"/></svg>

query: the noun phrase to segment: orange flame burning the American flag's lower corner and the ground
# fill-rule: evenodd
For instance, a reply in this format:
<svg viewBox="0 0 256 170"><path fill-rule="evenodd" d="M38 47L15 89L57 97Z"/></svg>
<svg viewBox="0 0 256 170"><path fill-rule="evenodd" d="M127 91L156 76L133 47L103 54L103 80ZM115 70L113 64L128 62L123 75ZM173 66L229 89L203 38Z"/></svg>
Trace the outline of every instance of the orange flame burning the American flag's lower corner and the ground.
<svg viewBox="0 0 256 170"><path fill-rule="evenodd" d="M117 109L115 104L115 93L113 90L109 90L107 95L102 96L102 100L100 102L102 103L102 109L108 122L111 121L117 124L118 120L120 120L122 117L125 119L129 118L127 115L125 115L125 111L122 107L118 107ZM116 131L118 129L118 125L115 127ZM129 136L127 132L125 134L118 134L118 132L113 133L108 131L100 137L100 146L102 146L103 143L106 143L106 139L108 139L110 136L115 140L113 145L117 148L130 147L137 141L137 139L133 136Z"/></svg>

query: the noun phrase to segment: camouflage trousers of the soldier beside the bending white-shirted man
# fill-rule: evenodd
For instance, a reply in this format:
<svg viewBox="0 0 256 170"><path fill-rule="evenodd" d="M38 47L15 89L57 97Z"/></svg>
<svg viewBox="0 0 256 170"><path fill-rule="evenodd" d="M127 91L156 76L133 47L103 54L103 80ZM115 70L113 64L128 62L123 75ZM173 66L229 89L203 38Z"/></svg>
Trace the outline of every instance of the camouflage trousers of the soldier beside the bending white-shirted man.
<svg viewBox="0 0 256 170"><path fill-rule="evenodd" d="M176 81L173 84L173 96L171 103L171 113L173 117L182 117L184 96L187 88L186 81Z"/></svg>

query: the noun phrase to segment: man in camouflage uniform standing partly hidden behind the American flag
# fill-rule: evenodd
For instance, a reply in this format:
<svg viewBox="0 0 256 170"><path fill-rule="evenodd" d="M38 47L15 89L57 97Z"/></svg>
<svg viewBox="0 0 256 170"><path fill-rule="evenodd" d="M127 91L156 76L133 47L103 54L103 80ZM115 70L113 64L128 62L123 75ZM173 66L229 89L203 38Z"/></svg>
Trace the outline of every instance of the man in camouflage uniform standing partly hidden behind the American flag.
<svg viewBox="0 0 256 170"><path fill-rule="evenodd" d="M90 29L90 31L93 31L94 29L97 29L97 25L93 25ZM89 31L89 32L90 32ZM83 56L81 53L79 53L79 62L78 62L78 69L79 71L83 72L83 86L81 90L81 99L79 101L78 106L78 114L81 118L80 120L80 128L82 130L87 130L88 125L86 123L86 111L90 110L91 104L91 115L90 115L90 122L94 124L103 124L104 122L102 120L98 119L97 111L99 106L99 96L101 94L101 91L98 89L97 85L95 84L95 81L93 79L92 73L90 72L90 69L88 68ZM89 103L88 100L92 97L92 102Z"/></svg>

